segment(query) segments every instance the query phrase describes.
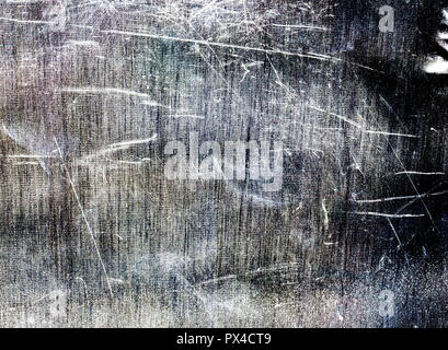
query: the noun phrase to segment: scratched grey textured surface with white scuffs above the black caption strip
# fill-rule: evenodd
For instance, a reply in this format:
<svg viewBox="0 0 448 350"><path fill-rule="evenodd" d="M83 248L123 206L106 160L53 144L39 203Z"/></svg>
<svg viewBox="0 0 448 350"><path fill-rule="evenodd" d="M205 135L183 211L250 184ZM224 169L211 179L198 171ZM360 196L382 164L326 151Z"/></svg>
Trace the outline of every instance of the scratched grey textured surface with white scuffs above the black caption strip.
<svg viewBox="0 0 448 350"><path fill-rule="evenodd" d="M380 2L2 0L0 326L446 326L444 3ZM282 190L166 179L192 131Z"/></svg>

